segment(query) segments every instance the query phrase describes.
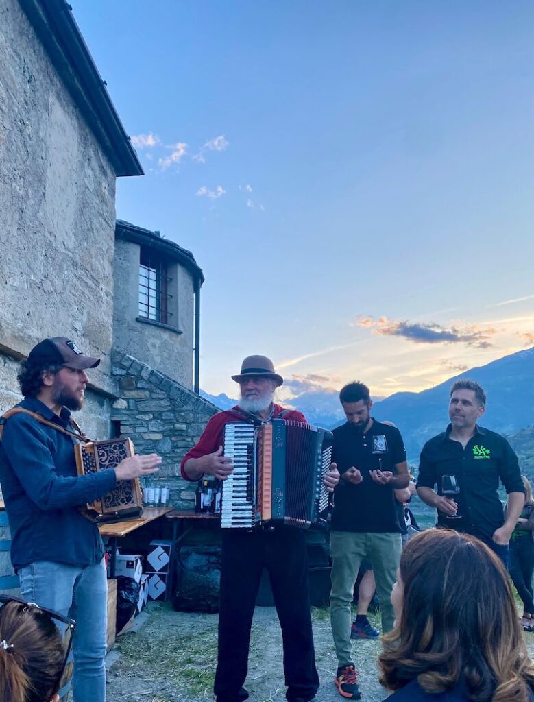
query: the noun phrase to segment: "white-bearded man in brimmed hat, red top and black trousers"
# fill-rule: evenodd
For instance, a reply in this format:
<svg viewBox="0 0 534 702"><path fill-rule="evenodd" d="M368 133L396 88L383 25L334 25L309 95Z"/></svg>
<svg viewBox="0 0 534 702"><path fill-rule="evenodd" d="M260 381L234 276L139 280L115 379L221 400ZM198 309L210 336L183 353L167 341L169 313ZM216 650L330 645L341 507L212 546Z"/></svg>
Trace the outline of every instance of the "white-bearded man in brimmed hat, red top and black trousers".
<svg viewBox="0 0 534 702"><path fill-rule="evenodd" d="M184 456L182 476L187 480L198 480L204 473L225 480L232 472L231 459L222 455L224 427L228 422L260 424L276 418L306 421L302 413L274 403L274 390L282 385L283 378L275 373L271 359L248 356L241 364L241 372L232 376L232 380L239 383L239 404L215 414L199 443ZM332 464L325 484L333 489L338 482L339 473ZM286 698L288 702L309 702L319 688L309 613L305 532L294 527L224 529L218 665L213 687L217 702L241 702L248 698L243 684L255 600L264 568L269 573L282 630Z"/></svg>

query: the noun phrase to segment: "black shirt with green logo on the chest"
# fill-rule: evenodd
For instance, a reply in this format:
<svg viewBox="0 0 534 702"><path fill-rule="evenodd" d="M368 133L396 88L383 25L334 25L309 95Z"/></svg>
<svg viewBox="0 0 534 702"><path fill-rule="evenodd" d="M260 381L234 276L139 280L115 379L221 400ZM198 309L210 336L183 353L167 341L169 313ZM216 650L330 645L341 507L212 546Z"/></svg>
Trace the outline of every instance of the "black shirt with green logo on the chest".
<svg viewBox="0 0 534 702"><path fill-rule="evenodd" d="M438 512L438 526L491 538L495 529L505 523L497 492L499 482L507 494L525 491L517 456L504 437L489 429L477 425L465 449L449 438L450 429L449 424L423 447L418 487L437 486L438 494L443 495L443 475L455 475L460 486L455 502L462 518L447 519Z"/></svg>

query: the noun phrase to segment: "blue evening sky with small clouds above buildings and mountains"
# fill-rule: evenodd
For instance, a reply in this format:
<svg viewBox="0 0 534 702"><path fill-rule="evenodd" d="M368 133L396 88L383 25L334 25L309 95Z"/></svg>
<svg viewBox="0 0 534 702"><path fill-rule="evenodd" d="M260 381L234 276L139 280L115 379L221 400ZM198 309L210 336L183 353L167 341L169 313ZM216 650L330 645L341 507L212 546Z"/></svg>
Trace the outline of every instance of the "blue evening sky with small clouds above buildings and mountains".
<svg viewBox="0 0 534 702"><path fill-rule="evenodd" d="M422 390L534 344L526 0L72 0L145 168L117 216L193 251L201 387Z"/></svg>

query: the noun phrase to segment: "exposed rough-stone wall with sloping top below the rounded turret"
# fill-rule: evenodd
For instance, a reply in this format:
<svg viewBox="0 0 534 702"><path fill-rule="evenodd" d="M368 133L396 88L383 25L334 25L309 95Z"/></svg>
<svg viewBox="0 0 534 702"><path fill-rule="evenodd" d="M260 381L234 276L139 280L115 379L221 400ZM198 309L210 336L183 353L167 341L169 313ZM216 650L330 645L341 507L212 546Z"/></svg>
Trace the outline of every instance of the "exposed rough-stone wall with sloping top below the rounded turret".
<svg viewBox="0 0 534 702"><path fill-rule="evenodd" d="M196 484L180 477L180 461L218 409L133 356L114 350L112 361L120 395L112 421L121 423L121 436L132 439L136 452L159 453L163 465L154 482L171 488L175 507L192 508Z"/></svg>

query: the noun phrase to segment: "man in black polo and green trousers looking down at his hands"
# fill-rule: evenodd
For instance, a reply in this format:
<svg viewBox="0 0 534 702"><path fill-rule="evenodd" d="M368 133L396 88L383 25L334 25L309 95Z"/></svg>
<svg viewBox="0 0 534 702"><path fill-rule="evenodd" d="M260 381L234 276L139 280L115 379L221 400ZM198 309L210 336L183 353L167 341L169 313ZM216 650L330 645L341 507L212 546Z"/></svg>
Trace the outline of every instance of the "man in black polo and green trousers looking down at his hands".
<svg viewBox="0 0 534 702"><path fill-rule="evenodd" d="M351 604L361 560L371 562L380 597L382 631L393 628L391 593L402 551L394 490L410 482L399 430L371 417L373 401L363 383L340 392L347 423L335 428L332 460L340 482L334 491L331 531L331 623L338 672L335 685L346 699L361 697L352 661Z"/></svg>

